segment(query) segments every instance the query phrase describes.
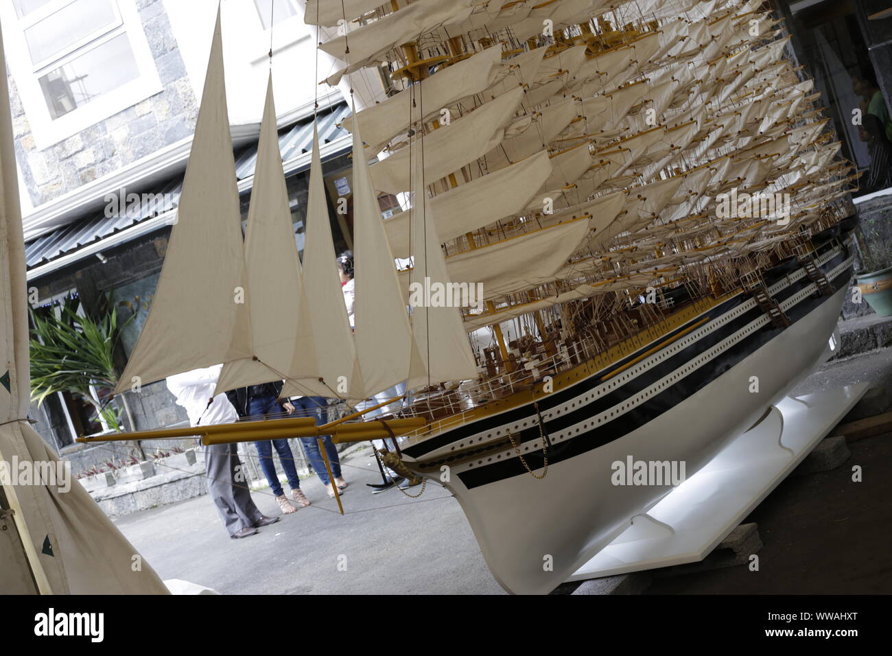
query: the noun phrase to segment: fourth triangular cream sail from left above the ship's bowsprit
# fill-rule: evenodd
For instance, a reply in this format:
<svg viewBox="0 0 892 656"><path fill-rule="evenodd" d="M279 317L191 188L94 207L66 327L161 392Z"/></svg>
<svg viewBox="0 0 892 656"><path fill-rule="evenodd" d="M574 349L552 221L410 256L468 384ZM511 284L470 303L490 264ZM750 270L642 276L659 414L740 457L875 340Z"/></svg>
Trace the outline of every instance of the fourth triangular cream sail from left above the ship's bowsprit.
<svg viewBox="0 0 892 656"><path fill-rule="evenodd" d="M376 394L409 378L417 345L353 114L353 226L356 354L363 389Z"/></svg>

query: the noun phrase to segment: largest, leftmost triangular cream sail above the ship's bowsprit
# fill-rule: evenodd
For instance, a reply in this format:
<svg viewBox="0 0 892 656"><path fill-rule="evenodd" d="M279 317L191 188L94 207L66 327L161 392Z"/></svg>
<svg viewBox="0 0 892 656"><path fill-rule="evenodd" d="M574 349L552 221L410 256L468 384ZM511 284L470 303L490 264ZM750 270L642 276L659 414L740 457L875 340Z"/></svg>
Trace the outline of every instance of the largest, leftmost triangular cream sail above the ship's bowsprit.
<svg viewBox="0 0 892 656"><path fill-rule="evenodd" d="M152 310L116 393L252 356L235 180L218 12L177 223Z"/></svg>

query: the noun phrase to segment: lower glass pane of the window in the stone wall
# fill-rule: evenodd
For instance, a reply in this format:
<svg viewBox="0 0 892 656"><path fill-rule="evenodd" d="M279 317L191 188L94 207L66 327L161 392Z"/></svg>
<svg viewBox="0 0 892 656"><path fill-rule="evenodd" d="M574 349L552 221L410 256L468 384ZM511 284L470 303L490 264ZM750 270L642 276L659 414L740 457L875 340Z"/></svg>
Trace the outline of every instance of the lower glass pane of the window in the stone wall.
<svg viewBox="0 0 892 656"><path fill-rule="evenodd" d="M139 77L126 34L121 34L49 71L39 79L54 119Z"/></svg>

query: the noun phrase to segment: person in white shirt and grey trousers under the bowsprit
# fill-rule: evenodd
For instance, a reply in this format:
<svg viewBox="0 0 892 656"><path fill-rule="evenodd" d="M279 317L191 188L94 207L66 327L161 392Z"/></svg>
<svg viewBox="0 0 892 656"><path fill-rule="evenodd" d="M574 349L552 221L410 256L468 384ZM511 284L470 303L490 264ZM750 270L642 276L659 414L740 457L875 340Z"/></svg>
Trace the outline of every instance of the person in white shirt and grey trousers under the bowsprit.
<svg viewBox="0 0 892 656"><path fill-rule="evenodd" d="M191 426L223 424L238 419L238 414L226 394L211 395L217 386L219 364L170 376L167 386L177 397L178 405L186 408ZM279 520L266 517L251 498L247 481L238 459L237 444L210 444L204 449L205 476L208 490L220 513L220 519L232 538L252 536L259 527Z"/></svg>

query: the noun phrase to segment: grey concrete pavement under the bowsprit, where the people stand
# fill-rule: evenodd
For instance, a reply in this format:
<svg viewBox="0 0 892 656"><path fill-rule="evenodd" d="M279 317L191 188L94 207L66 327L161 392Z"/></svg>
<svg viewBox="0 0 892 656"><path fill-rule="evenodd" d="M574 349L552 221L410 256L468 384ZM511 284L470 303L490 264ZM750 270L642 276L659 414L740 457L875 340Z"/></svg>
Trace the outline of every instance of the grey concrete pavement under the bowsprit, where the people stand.
<svg viewBox="0 0 892 656"><path fill-rule="evenodd" d="M452 495L431 484L417 499L371 494L365 484L381 476L370 453L342 463L343 517L314 476L301 481L311 506L241 540L229 539L207 494L115 523L161 578L222 594L504 594ZM279 516L269 488L252 497Z"/></svg>

